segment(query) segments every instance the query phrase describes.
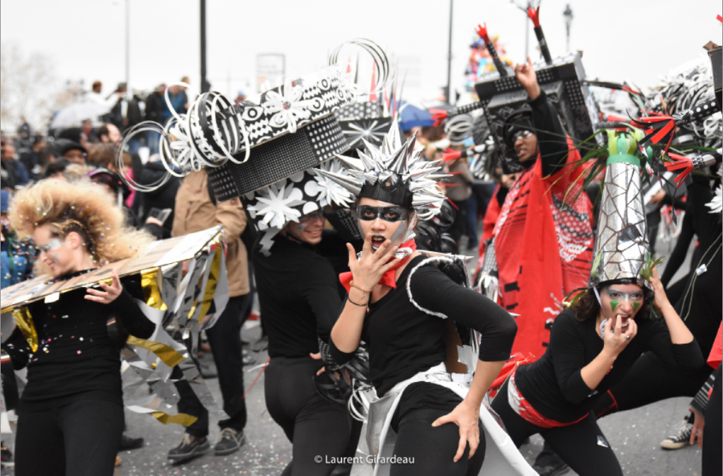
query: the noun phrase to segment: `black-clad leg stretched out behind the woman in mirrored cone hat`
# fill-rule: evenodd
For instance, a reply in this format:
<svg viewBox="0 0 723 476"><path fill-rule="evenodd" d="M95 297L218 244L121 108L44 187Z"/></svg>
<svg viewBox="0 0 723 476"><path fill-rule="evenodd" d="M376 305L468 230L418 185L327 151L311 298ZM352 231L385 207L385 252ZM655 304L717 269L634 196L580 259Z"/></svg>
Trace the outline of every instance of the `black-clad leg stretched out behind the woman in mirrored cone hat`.
<svg viewBox="0 0 723 476"><path fill-rule="evenodd" d="M623 381L602 394L593 412L602 418L673 397L693 398L706 383L711 371L713 369L708 365L698 371L673 368L653 352L645 352L636 360Z"/></svg>

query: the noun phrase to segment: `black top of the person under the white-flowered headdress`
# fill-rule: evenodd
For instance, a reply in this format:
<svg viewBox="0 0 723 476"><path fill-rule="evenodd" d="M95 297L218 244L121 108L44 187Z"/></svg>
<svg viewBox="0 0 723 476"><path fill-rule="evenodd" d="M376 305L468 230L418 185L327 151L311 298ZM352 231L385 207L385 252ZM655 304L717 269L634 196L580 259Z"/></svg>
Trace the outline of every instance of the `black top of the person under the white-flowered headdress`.
<svg viewBox="0 0 723 476"><path fill-rule="evenodd" d="M263 235L261 235L263 236ZM269 357L308 357L328 342L341 298L333 267L315 249L276 235L270 256L254 246L254 275Z"/></svg>

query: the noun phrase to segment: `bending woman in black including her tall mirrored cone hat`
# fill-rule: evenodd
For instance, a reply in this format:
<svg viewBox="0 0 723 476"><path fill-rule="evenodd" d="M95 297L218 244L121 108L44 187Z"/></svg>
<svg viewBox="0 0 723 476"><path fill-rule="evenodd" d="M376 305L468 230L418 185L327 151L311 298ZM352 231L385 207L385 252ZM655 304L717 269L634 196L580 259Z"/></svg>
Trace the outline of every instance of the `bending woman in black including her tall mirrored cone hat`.
<svg viewBox="0 0 723 476"><path fill-rule="evenodd" d="M492 402L516 445L539 433L581 476L623 475L592 410L643 352L703 365L649 254L637 142L611 134L590 287L557 316L542 358L519 366Z"/></svg>

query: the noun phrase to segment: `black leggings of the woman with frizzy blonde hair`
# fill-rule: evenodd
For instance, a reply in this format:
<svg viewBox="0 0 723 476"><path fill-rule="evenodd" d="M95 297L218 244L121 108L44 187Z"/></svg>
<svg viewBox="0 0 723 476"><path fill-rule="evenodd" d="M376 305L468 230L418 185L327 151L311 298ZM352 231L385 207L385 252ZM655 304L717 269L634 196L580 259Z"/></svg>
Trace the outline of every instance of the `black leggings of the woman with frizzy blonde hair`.
<svg viewBox="0 0 723 476"><path fill-rule="evenodd" d="M15 475L111 476L123 423L123 407L105 400L19 411Z"/></svg>

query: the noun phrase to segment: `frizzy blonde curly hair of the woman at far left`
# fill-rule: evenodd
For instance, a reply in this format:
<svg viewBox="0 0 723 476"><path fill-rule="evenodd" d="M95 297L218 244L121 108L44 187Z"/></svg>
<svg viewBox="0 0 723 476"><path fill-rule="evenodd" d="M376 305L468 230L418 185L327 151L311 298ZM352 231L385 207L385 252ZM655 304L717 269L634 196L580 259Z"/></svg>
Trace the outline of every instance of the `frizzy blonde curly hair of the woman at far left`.
<svg viewBox="0 0 723 476"><path fill-rule="evenodd" d="M48 224L51 233L61 238L74 231L101 265L130 258L155 241L150 233L128 227L113 194L87 180L41 180L17 193L9 219L19 238Z"/></svg>

